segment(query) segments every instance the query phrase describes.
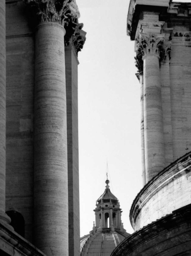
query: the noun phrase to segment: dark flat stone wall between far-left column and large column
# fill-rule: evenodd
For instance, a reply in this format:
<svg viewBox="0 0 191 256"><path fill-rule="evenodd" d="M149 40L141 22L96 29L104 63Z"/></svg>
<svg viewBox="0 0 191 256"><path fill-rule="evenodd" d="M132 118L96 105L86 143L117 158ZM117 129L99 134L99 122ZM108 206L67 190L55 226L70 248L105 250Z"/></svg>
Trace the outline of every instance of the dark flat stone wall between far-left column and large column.
<svg viewBox="0 0 191 256"><path fill-rule="evenodd" d="M34 37L22 1L6 1L6 211L33 237Z"/></svg>

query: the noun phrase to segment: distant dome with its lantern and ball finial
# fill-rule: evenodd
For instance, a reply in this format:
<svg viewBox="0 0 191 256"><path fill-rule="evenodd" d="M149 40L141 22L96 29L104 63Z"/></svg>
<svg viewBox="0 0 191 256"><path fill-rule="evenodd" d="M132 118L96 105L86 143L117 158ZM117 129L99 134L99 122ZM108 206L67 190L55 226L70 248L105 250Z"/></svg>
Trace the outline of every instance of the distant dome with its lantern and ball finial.
<svg viewBox="0 0 191 256"><path fill-rule="evenodd" d="M96 201L95 222L90 233L80 239L81 256L110 256L112 251L128 236L121 221L121 209L117 197L106 189ZM87 255L88 254L88 255Z"/></svg>

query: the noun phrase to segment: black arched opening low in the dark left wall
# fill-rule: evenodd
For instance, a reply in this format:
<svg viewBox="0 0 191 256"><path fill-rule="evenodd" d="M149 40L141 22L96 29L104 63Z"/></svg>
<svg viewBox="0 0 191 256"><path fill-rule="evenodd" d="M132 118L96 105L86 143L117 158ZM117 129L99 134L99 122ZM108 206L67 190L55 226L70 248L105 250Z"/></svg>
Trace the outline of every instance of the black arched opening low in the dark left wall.
<svg viewBox="0 0 191 256"><path fill-rule="evenodd" d="M6 214L11 218L10 225L14 228L15 232L24 237L24 218L22 214L16 211L7 211Z"/></svg>

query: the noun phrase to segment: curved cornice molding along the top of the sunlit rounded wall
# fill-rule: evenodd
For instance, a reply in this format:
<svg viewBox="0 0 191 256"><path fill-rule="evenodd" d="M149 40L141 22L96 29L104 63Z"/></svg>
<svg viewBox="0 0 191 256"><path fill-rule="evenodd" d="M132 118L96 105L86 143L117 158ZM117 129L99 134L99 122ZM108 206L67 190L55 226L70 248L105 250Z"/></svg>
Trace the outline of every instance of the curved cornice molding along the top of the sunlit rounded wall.
<svg viewBox="0 0 191 256"><path fill-rule="evenodd" d="M140 214L144 214L143 208L145 209L145 207L148 206L149 201L152 200L152 198L154 198L154 196L159 191L162 191L162 189L164 187L167 188L176 179L178 179L179 177L181 177L185 174L187 174L187 176L190 176L191 175L190 171L191 171L191 152L189 152L189 153L185 154L184 156L180 157L175 162L171 163L169 166L164 168L155 177L153 177L153 179L150 180L141 189L141 191L139 192L139 194L136 196L136 198L133 201L133 204L132 204L132 207L131 207L131 210L130 210L130 213L129 213L129 218L130 218L130 222L131 222L132 227L134 229L139 229L139 228L136 228L137 225L140 225L140 223L137 224L137 221L136 221L138 216ZM188 181L188 186L189 186L189 181ZM185 189L186 189L186 187L185 187ZM189 204L190 199L188 198L188 200L185 201L184 203ZM170 207L171 207L171 204L169 203L168 207L166 206L166 214L169 214L170 212L172 212L172 209ZM162 211L162 205L161 205L161 208L160 208L160 212L161 211ZM160 218L160 217L162 217L162 216L158 216L157 218ZM149 224L149 223L147 223L147 224ZM144 223L141 226L145 226L147 224Z"/></svg>

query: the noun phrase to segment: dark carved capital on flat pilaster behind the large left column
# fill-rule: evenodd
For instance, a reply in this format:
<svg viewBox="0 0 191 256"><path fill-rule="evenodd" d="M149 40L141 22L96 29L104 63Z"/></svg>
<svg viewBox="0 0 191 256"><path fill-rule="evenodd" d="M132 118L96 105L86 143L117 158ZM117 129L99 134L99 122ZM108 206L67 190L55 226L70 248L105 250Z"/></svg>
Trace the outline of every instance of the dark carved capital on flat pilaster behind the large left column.
<svg viewBox="0 0 191 256"><path fill-rule="evenodd" d="M78 23L72 38L65 37L65 45L67 46L71 44L74 48L76 56L78 55L78 52L80 52L83 48L86 41L86 32L82 30L83 26L83 23Z"/></svg>

